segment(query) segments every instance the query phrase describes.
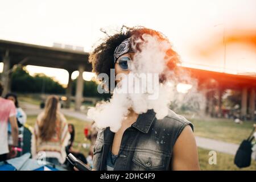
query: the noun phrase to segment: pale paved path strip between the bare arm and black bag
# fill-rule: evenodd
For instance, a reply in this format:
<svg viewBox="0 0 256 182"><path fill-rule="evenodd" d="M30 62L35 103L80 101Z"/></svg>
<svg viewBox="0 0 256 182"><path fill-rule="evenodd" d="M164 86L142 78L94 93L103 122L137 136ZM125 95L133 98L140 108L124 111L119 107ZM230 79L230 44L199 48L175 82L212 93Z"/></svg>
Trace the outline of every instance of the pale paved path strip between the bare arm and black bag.
<svg viewBox="0 0 256 182"><path fill-rule="evenodd" d="M231 155L235 155L239 147L238 144L222 142L221 140L214 140L204 137L196 137L196 144L197 147L223 152Z"/></svg>

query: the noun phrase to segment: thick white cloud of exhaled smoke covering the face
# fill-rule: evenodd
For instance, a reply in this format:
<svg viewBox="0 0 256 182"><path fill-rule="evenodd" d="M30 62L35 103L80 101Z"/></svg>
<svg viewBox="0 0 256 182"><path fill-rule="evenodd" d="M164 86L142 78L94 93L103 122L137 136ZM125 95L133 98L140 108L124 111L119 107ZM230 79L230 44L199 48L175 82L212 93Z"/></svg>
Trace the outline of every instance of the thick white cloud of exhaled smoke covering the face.
<svg viewBox="0 0 256 182"><path fill-rule="evenodd" d="M142 40L143 39L143 40ZM171 44L156 36L144 34L142 39L133 38L134 49L140 48L129 65L128 75L117 75L120 80L108 102L101 102L88 110L88 117L97 127L110 127L117 132L123 119L133 109L135 113L146 113L153 109L157 119L168 114L171 101L176 100L176 84L180 79L168 66L176 55L168 55ZM174 57L172 57L174 56Z"/></svg>

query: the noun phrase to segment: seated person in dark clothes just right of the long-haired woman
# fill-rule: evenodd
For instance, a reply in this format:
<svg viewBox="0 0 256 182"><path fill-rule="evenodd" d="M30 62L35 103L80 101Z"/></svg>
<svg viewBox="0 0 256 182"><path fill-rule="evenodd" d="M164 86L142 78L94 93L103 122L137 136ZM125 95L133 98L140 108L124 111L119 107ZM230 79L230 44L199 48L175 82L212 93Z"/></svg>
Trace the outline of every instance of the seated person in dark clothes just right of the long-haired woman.
<svg viewBox="0 0 256 182"><path fill-rule="evenodd" d="M87 164L87 160L86 160L84 154L82 154L81 152L79 152L78 150L75 150L73 148L73 143L75 140L75 126L73 124L68 124L68 131L69 131L69 134L71 135L71 138L69 139L68 146L66 147L67 154L71 153L77 159L81 160L81 162Z"/></svg>

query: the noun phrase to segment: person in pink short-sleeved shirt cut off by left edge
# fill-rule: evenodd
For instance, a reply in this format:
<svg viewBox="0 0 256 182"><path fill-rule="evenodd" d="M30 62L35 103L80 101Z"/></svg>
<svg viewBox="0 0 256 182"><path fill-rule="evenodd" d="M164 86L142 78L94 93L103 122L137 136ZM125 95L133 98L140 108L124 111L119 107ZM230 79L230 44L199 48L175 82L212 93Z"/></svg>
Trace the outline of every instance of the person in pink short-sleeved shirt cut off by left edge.
<svg viewBox="0 0 256 182"><path fill-rule="evenodd" d="M2 96L3 86L0 83L0 96ZM8 121L11 125L11 135L13 146L8 148ZM14 102L0 97L0 161L7 159L7 154L15 157L18 146L18 125L16 121L16 109Z"/></svg>

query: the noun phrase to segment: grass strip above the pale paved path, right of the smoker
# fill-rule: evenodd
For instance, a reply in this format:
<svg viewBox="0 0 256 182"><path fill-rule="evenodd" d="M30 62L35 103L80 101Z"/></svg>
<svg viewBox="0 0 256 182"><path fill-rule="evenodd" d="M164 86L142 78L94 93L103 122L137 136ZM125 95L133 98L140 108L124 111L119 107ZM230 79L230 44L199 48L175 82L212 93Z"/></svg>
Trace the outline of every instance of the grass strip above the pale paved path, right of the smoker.
<svg viewBox="0 0 256 182"><path fill-rule="evenodd" d="M251 130L253 123L251 121L243 122L242 124L234 123L232 119L189 119L195 126L195 135L200 137L222 140L230 143L240 144L243 139L246 139Z"/></svg>

